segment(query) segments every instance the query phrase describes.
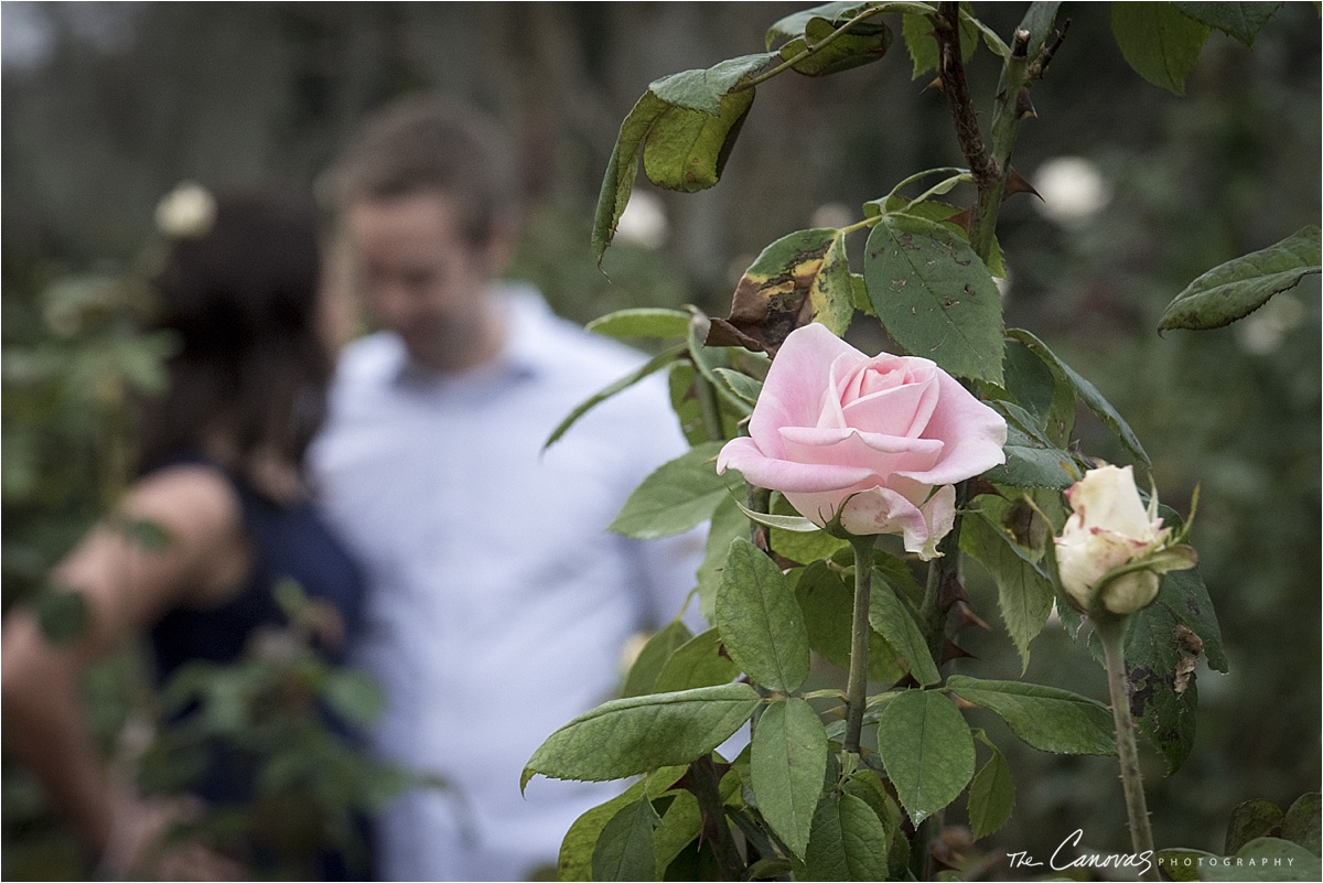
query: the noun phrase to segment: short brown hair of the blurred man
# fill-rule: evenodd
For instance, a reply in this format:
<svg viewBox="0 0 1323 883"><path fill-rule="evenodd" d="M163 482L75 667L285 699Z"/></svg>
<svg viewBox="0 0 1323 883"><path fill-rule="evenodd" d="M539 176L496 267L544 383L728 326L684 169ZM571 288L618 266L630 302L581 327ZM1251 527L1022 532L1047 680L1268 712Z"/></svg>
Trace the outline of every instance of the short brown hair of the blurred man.
<svg viewBox="0 0 1323 883"><path fill-rule="evenodd" d="M332 169L329 185L340 209L442 193L455 200L474 243L513 223L523 196L504 128L468 104L435 95L402 98L372 114Z"/></svg>

